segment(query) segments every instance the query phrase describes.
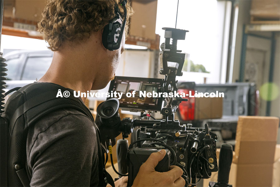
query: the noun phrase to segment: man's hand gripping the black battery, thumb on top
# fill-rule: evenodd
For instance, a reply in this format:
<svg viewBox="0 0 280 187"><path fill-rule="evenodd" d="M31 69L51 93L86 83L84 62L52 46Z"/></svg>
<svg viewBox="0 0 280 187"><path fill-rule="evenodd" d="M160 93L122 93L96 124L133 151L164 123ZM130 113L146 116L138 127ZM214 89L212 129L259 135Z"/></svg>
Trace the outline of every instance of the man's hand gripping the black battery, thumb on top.
<svg viewBox="0 0 280 187"><path fill-rule="evenodd" d="M162 149L159 152L152 153L146 162L144 162L136 178L133 181L133 186L184 186L185 180L181 177L183 170L175 165L170 166L167 172L157 172L155 167L166 154Z"/></svg>

